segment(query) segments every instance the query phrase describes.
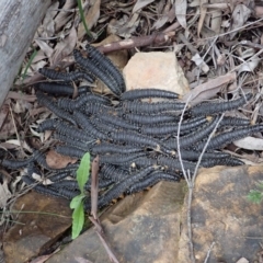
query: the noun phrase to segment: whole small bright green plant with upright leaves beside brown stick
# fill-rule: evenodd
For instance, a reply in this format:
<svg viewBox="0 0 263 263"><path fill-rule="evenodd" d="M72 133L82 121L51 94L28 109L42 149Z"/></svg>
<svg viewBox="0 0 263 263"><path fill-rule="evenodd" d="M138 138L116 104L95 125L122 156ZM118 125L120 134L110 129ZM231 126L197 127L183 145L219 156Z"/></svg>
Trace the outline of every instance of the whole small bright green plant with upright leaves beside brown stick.
<svg viewBox="0 0 263 263"><path fill-rule="evenodd" d="M88 182L90 176L90 153L87 152L81 161L79 169L77 170L77 181L80 188L80 194L75 196L73 199L70 202L70 208L75 209L72 213L72 239L79 237L80 231L84 225L84 206L83 199L84 195L84 184Z"/></svg>

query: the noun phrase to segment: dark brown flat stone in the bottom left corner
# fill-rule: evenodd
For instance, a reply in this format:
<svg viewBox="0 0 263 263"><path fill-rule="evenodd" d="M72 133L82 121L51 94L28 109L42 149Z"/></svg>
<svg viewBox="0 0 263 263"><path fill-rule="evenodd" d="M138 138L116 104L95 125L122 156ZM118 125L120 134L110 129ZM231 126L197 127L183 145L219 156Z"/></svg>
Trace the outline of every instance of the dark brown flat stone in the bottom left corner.
<svg viewBox="0 0 263 263"><path fill-rule="evenodd" d="M18 198L12 210L20 213L18 217L14 214L18 224L3 235L5 263L28 262L55 243L72 224L68 201L36 192Z"/></svg>

